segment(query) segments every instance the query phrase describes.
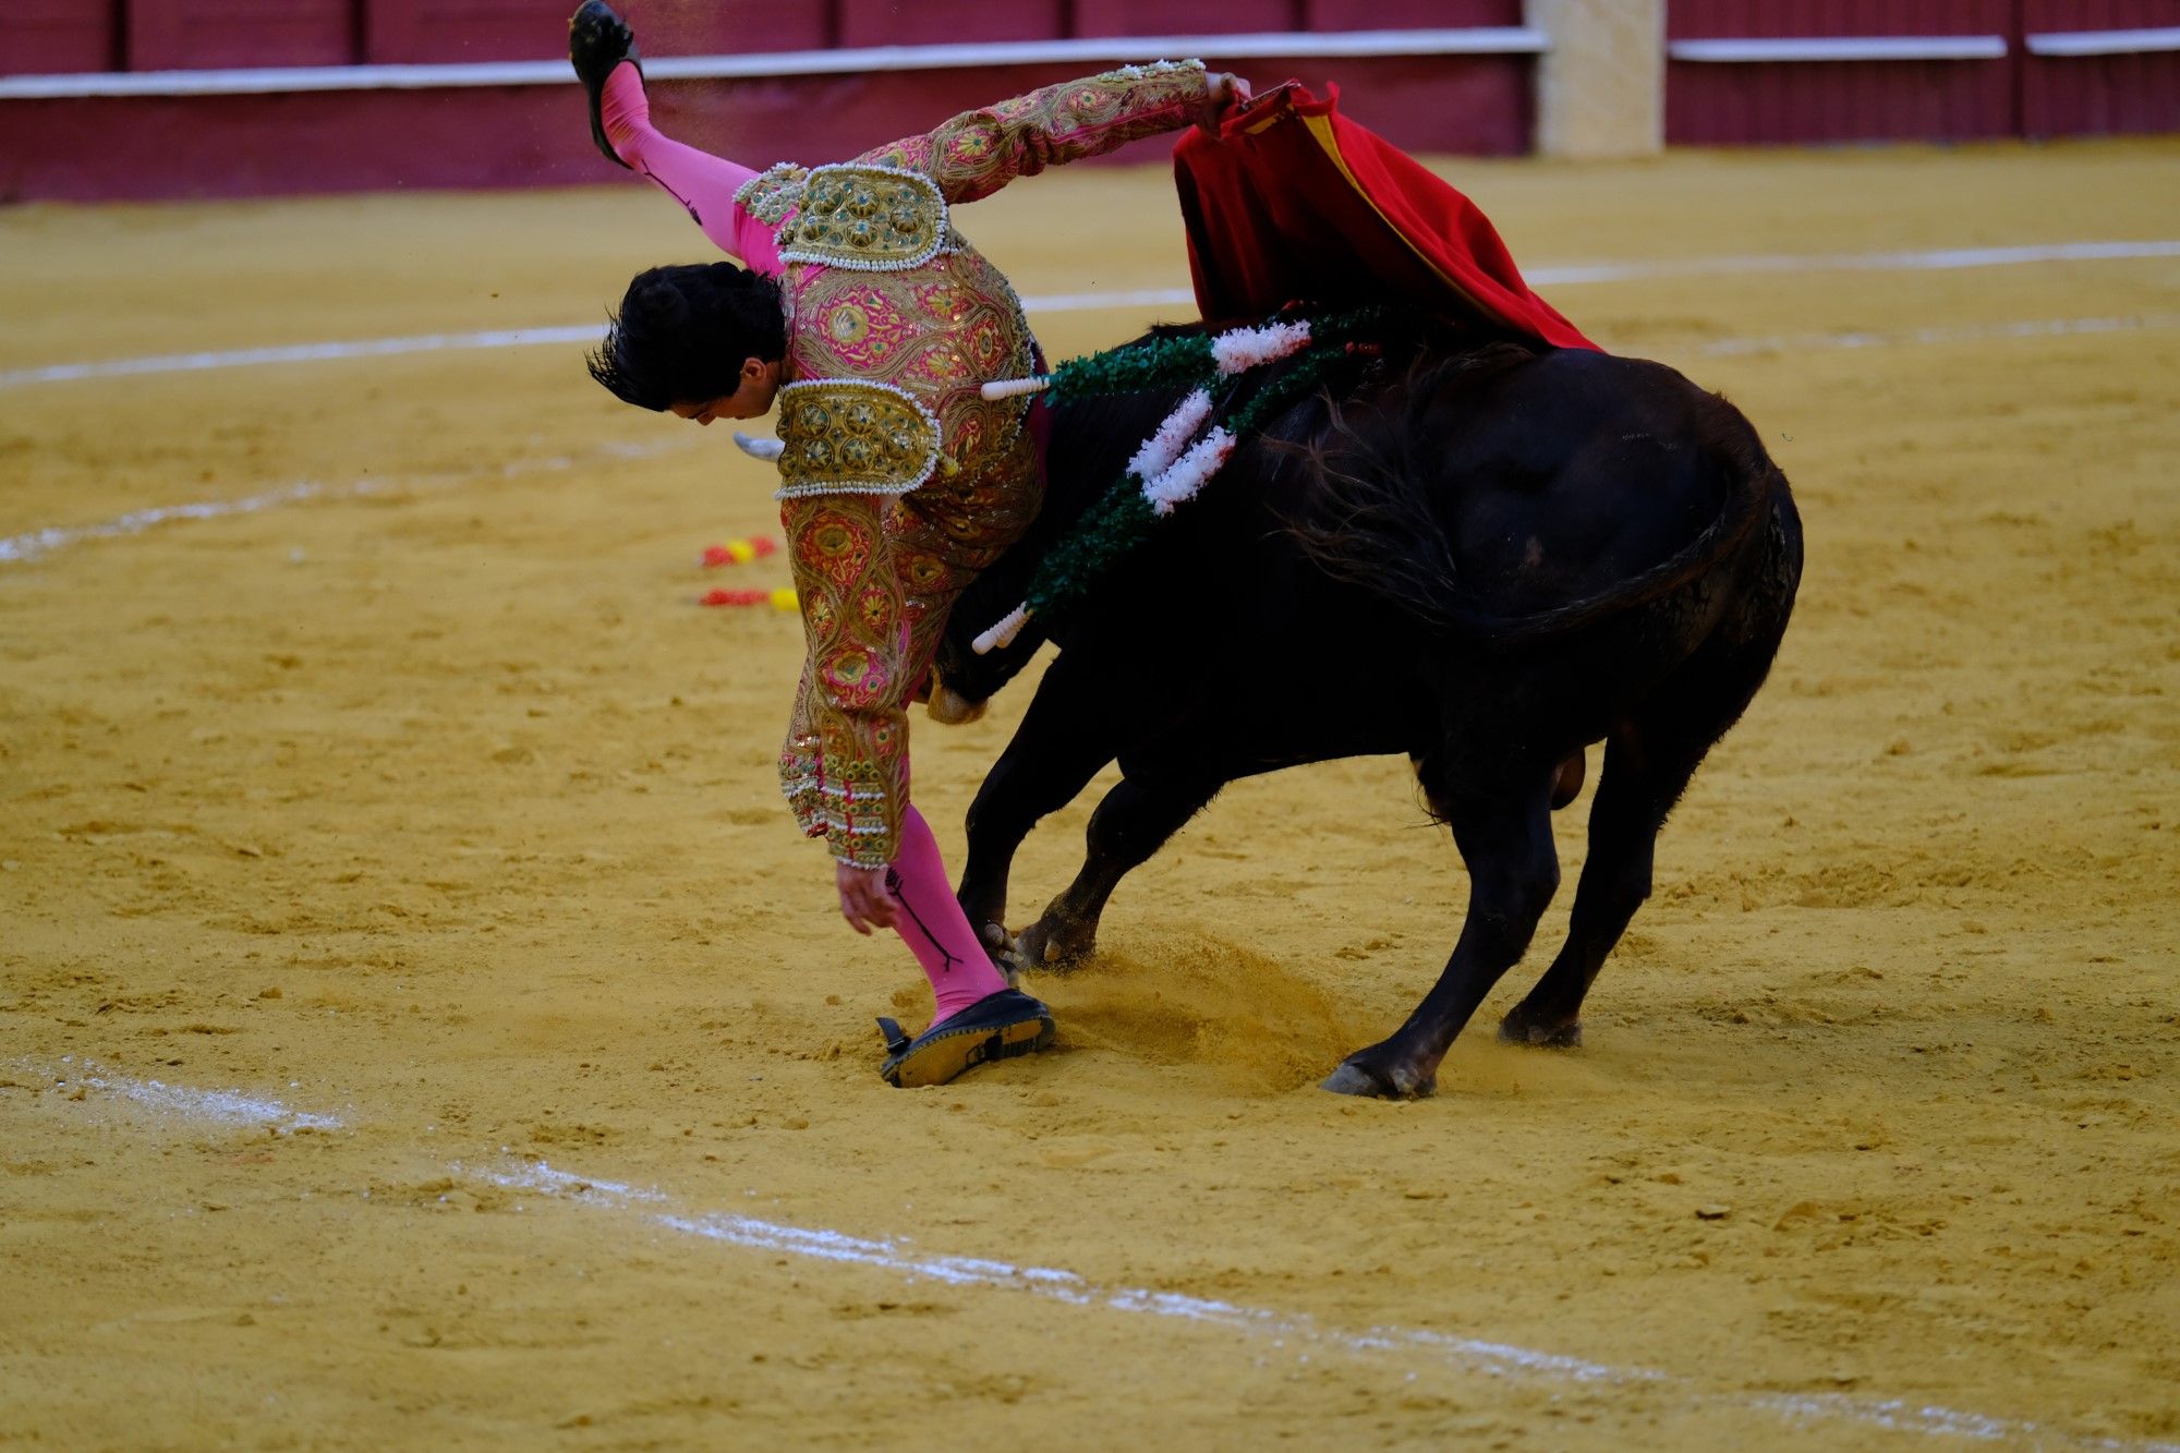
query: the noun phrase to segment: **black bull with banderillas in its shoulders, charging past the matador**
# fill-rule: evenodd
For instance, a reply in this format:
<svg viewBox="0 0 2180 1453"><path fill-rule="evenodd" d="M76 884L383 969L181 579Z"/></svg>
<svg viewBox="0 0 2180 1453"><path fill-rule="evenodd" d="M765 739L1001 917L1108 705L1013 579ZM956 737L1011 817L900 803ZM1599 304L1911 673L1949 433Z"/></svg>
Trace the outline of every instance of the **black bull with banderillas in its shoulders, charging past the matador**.
<svg viewBox="0 0 2180 1453"><path fill-rule="evenodd" d="M1567 940L1500 1023L1513 1043L1581 1043L1666 814L1779 650L1801 519L1740 410L1655 362L1421 347L1339 393L1243 447L1059 615L1059 657L970 807L961 905L994 951L1066 964L1121 877L1225 783L1406 753L1467 864L1467 918L1408 1021L1325 1089L1426 1095L1559 888L1552 809L1604 742ZM992 657L968 641L1173 401L1055 412L1044 517L964 596L940 650L955 705L1036 650L1033 631ZM1114 759L1081 873L1009 938L1014 851Z"/></svg>

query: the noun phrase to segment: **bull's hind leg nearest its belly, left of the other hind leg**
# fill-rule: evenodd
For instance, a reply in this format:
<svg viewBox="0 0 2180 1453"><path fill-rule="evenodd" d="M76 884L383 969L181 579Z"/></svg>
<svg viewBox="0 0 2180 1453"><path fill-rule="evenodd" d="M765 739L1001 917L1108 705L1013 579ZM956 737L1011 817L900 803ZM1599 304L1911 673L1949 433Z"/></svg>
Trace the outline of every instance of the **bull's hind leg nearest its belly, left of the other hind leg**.
<svg viewBox="0 0 2180 1453"><path fill-rule="evenodd" d="M1506 781L1515 785L1502 785ZM1437 1086L1439 1060L1500 975L1528 949L1537 918L1559 890L1559 851L1552 846L1557 781L1559 764L1552 761L1491 788L1461 781L1434 790L1426 783L1469 868L1469 914L1445 973L1408 1021L1391 1038L1349 1054L1325 1080L1328 1091L1410 1097Z"/></svg>

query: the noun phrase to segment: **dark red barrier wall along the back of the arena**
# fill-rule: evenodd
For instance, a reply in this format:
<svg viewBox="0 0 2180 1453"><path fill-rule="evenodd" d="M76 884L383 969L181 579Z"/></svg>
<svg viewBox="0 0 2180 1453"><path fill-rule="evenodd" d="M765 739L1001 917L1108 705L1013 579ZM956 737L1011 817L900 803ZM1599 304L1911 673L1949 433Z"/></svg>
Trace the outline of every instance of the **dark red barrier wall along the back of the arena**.
<svg viewBox="0 0 2180 1453"><path fill-rule="evenodd" d="M571 4L571 0L560 0ZM0 76L255 65L554 61L541 0L11 0ZM1522 0L628 0L645 52L1519 26ZM2180 129L2180 52L2043 57L2043 31L2180 26L2180 0L1670 0L1672 39L1990 35L1990 61L1670 61L1676 144L1971 140ZM1151 59L1151 57L1144 57ZM1206 57L1221 63L1216 55ZM708 81L663 87L693 140L741 159L852 155L909 124L1092 63ZM1251 59L1260 85L1339 83L1345 107L1413 151L1522 153L1526 55ZM0 201L238 196L600 177L571 85L279 96L0 100Z"/></svg>

